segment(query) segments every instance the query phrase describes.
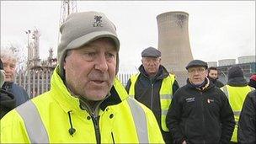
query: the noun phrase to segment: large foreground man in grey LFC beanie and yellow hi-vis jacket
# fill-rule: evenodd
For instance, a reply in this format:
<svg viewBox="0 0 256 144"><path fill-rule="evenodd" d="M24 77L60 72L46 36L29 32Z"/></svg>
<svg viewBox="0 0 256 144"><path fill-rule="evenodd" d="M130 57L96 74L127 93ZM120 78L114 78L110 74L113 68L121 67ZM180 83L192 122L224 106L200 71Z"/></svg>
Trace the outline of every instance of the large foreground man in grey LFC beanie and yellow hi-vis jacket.
<svg viewBox="0 0 256 144"><path fill-rule="evenodd" d="M70 14L51 90L3 117L0 143L163 143L152 111L115 78L119 50L104 13Z"/></svg>

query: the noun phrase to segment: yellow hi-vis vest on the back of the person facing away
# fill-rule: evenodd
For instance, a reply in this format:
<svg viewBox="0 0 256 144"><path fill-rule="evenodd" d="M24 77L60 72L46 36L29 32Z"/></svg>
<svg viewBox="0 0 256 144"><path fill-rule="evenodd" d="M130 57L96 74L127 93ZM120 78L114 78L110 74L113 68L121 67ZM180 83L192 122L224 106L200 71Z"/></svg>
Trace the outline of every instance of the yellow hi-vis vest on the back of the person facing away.
<svg viewBox="0 0 256 144"><path fill-rule="evenodd" d="M232 107L232 111L235 116L236 125L233 131L231 141L237 142L237 127L239 116L243 107L244 99L246 95L253 90L253 88L249 86L245 87L232 87L230 85L225 85L221 88L221 90L226 94L227 99L229 100L229 104Z"/></svg>

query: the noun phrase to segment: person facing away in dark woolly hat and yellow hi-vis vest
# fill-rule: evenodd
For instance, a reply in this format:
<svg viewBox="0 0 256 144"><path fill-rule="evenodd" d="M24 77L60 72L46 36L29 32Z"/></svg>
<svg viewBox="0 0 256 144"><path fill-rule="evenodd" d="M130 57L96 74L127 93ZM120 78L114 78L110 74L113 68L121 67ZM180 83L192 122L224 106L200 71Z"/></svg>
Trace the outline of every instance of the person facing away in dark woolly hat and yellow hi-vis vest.
<svg viewBox="0 0 256 144"><path fill-rule="evenodd" d="M243 77L243 70L241 67L231 67L228 70L227 78L227 85L222 87L221 90L226 94L235 115L236 125L231 141L237 143L237 124L239 115L246 95L252 91L253 88L248 86L248 82Z"/></svg>

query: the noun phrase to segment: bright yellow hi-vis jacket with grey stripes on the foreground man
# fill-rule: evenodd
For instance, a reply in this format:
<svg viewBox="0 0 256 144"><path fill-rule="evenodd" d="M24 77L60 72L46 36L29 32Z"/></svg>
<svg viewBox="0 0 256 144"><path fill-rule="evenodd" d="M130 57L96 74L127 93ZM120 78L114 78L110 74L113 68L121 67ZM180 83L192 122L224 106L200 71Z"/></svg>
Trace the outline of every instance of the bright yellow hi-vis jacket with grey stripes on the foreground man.
<svg viewBox="0 0 256 144"><path fill-rule="evenodd" d="M1 143L164 143L152 111L131 99L116 78L108 102L100 105L97 125L57 70L49 92L3 117Z"/></svg>

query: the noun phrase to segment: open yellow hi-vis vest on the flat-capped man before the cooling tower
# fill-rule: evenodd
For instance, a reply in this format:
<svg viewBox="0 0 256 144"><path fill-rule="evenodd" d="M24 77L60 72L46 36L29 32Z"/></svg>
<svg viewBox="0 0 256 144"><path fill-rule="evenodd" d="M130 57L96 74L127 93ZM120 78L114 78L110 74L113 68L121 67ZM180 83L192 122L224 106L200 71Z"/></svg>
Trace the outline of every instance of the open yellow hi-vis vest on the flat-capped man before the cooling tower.
<svg viewBox="0 0 256 144"><path fill-rule="evenodd" d="M129 95L135 97L135 83L139 74L131 76L131 87L129 89ZM175 76L169 74L168 77L163 79L161 88L160 88L160 104L161 104L161 126L163 131L169 131L166 126L166 115L168 112L169 105L171 104L173 98L173 83L175 81Z"/></svg>

